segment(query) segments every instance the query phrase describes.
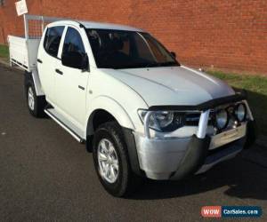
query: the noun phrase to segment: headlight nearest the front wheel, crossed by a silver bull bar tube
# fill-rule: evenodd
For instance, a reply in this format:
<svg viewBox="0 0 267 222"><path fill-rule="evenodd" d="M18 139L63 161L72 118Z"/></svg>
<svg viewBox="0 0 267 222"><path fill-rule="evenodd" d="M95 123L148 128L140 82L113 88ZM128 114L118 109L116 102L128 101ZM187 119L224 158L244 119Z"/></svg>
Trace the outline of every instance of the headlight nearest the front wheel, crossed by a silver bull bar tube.
<svg viewBox="0 0 267 222"><path fill-rule="evenodd" d="M144 121L147 110L138 110L138 114ZM149 126L156 131L175 131L185 123L185 115L173 111L155 111L150 115Z"/></svg>

